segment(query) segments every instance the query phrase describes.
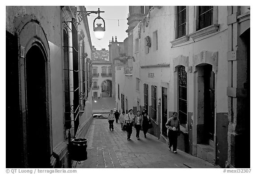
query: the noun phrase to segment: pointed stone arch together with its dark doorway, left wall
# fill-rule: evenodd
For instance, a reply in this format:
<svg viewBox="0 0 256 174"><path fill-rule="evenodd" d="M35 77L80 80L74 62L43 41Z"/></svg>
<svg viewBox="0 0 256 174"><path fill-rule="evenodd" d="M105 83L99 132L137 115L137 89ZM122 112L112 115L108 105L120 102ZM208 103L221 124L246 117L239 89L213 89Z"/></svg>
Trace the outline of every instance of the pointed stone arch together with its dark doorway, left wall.
<svg viewBox="0 0 256 174"><path fill-rule="evenodd" d="M23 120L22 127L24 129L22 133L25 150L24 163L25 166L30 168L49 167L52 152L52 138L50 138L52 137L49 70L50 48L44 29L34 15L25 15L15 18L14 27L19 45L20 110ZM37 65L39 68L36 69L33 63L38 61L40 62ZM41 75L43 78L39 78L39 82L33 83L34 80L38 78L37 75ZM43 133L40 133L40 138L44 142L44 150L42 150L41 154L45 155L44 159L42 158L43 160L40 160L37 163L33 162L33 158L36 155L40 156L40 154L36 154L36 150L31 151L31 146L36 146L37 142L34 142L32 138L29 138L29 134L33 134L33 129L35 128L34 124L36 124L36 121L31 114L31 108L35 107L33 102L31 102L33 99L33 94L31 94L33 84L36 85L36 89L38 89L37 91L40 92L40 101L44 99L44 101L41 101L44 106L39 107L39 110L43 111L40 111L39 117L44 120L44 124L39 124L38 127L44 127L44 129L41 129ZM40 122L43 123L42 120ZM39 143L43 144L42 141L39 141Z"/></svg>

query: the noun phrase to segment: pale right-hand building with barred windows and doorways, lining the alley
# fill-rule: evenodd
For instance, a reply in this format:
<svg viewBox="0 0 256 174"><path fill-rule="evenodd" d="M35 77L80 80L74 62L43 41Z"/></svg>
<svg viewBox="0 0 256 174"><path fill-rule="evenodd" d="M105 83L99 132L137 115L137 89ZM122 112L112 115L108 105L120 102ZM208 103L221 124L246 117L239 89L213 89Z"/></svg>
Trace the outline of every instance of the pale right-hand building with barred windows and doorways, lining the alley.
<svg viewBox="0 0 256 174"><path fill-rule="evenodd" d="M180 150L221 167L250 167L250 153L240 151L250 144L250 7L154 6L129 32L133 90L122 92L134 110L148 109L149 133L167 142L165 123L176 111ZM116 88L124 77L116 74Z"/></svg>

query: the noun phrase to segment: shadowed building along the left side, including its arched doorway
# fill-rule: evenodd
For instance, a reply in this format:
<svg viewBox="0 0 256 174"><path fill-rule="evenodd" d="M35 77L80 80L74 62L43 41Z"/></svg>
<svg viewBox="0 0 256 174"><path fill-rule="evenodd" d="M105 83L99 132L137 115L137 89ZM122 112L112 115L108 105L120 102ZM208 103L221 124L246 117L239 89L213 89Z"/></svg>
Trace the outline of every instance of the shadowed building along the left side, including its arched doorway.
<svg viewBox="0 0 256 174"><path fill-rule="evenodd" d="M71 167L68 132L84 137L92 122L92 44L77 11L6 6L7 168Z"/></svg>

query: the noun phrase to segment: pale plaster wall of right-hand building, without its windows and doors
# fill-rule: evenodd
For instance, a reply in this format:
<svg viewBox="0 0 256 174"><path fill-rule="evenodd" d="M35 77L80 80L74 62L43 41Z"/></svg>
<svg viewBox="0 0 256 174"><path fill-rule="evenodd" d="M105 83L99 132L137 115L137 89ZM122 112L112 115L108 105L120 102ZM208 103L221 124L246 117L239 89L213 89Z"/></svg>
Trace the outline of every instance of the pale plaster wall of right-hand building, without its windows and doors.
<svg viewBox="0 0 256 174"><path fill-rule="evenodd" d="M200 120L199 111L197 107L200 106L200 89L198 87L197 75L200 68L197 65L212 64L212 71L215 74L215 133L212 146L213 152L211 162L216 162L220 166L225 166L225 161L229 158L228 154L232 146L235 146L235 140L231 138L228 140L228 124L230 127L230 136L232 137L232 130L230 118L228 119L228 78L230 78L230 72L228 73L228 61L227 51L228 43L231 34L228 35L228 20L231 17L228 16L228 8L226 6L214 6L214 17L217 25L214 32L208 34L199 35L196 31L195 13L196 6L187 6L187 28L186 37L187 40L177 43L176 40L176 9L174 6L161 6L151 8L145 20L142 20L132 30L133 36L133 56L135 62L132 64L132 81L134 87L136 86L136 78L140 79L140 90L134 90L136 92L131 93L133 95L133 107L137 106L137 102L143 106L143 84L148 83L148 105L151 106L151 85L157 86L157 97L161 97L161 87L168 87L168 118L172 115L173 111L178 109L177 100L177 66L185 66L187 72L187 101L188 101L188 118L187 124L183 127L182 134L178 140L178 146L181 150L184 150L190 154L200 156L202 154L197 148L201 148L199 145L202 135L200 132L200 124L204 123ZM246 16L244 25L240 25L242 31L246 30L247 18L249 19L249 7L241 7L239 9L241 14L238 19ZM243 13L242 13L243 11ZM238 15L239 15L238 14ZM243 14L243 15L242 15ZM169 22L166 22L169 21ZM242 20L241 20L242 21ZM215 24L215 23L214 23ZM174 29L172 29L174 28ZM248 28L248 27L247 27ZM145 41L144 38L149 36L152 41L152 33L157 31L158 37L158 50L154 51L152 46L149 49L149 53L145 53ZM206 30L201 30L206 31ZM140 36L139 36L140 34ZM139 51L136 50L136 39L139 38ZM185 38L185 37L184 37ZM229 38L229 39L228 39ZM126 40L126 42L128 42ZM239 42L238 42L239 43ZM131 45L131 44L130 44ZM242 49L243 46L241 44ZM148 76L148 73L154 73ZM117 76L116 76L117 77ZM198 91L199 90L199 91ZM156 127L152 129L150 133L161 136L164 123L161 123L161 107L157 107L157 120ZM242 124L241 124L242 125ZM160 132L157 132L160 131ZM229 145L228 145L229 141ZM231 152L232 154L232 152ZM203 158L202 156L200 156ZM232 163L232 160L230 160ZM230 163L229 163L230 164Z"/></svg>

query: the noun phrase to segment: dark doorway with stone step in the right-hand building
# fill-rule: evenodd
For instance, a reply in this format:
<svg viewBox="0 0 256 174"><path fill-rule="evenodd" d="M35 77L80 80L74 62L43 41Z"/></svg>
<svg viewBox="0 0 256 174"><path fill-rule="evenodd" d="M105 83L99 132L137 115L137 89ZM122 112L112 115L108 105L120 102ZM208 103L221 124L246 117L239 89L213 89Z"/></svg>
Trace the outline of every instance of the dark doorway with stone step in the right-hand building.
<svg viewBox="0 0 256 174"><path fill-rule="evenodd" d="M197 69L197 122L199 144L212 145L215 131L215 73L212 65L201 63Z"/></svg>

